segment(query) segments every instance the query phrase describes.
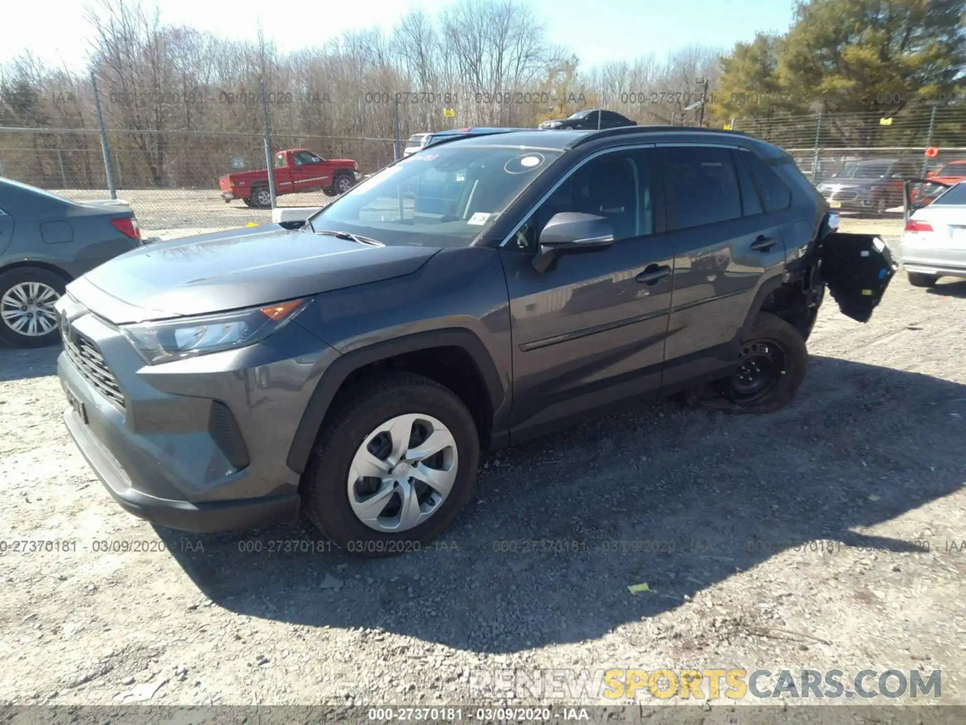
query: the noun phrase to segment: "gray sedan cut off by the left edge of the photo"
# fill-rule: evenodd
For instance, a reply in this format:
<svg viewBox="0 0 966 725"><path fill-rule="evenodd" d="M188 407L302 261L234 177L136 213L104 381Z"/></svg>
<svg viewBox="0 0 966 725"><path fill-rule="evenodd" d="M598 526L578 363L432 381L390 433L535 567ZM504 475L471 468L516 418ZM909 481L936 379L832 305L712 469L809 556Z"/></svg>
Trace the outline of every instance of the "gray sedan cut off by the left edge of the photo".
<svg viewBox="0 0 966 725"><path fill-rule="evenodd" d="M141 244L124 201L67 199L0 178L0 339L59 339L54 303L71 279Z"/></svg>

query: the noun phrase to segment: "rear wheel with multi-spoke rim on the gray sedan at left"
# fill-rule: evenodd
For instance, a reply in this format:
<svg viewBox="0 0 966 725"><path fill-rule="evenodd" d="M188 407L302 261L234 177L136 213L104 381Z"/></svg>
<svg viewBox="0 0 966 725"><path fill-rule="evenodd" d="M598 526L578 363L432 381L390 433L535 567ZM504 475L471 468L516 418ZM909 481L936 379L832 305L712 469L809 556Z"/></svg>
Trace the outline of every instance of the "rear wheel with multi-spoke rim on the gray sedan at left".
<svg viewBox="0 0 966 725"><path fill-rule="evenodd" d="M54 303L67 282L41 267L0 275L0 339L15 347L43 347L60 338Z"/></svg>

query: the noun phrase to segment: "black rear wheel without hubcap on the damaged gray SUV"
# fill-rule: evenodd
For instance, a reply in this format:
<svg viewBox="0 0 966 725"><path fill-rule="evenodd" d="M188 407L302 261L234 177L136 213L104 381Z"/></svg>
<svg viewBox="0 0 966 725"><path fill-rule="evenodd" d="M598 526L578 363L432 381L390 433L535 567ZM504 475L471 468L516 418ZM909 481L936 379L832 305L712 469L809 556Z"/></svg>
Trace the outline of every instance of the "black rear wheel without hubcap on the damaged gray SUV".
<svg viewBox="0 0 966 725"><path fill-rule="evenodd" d="M805 380L809 351L805 339L777 315L762 312L742 343L738 371L714 388L737 410L775 413Z"/></svg>

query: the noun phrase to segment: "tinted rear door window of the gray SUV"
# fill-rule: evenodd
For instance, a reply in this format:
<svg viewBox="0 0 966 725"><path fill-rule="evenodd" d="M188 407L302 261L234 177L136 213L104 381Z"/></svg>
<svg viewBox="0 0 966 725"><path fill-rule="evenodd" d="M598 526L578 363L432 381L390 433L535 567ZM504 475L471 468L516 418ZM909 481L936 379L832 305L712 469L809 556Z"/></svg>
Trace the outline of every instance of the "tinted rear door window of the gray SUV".
<svg viewBox="0 0 966 725"><path fill-rule="evenodd" d="M663 151L668 229L690 229L741 217L741 193L730 150L673 146Z"/></svg>

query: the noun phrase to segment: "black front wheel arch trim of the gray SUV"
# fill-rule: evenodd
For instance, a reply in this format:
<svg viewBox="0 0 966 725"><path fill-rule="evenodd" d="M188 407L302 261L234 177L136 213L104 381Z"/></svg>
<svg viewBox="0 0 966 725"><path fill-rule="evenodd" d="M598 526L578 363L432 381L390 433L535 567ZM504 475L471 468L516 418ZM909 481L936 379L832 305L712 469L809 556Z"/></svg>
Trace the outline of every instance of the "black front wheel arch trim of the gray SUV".
<svg viewBox="0 0 966 725"><path fill-rule="evenodd" d="M448 351L448 352L447 352ZM447 356L459 356L456 358ZM466 328L413 333L377 342L346 353L332 362L323 373L298 422L286 463L298 474L305 470L312 448L328 416L338 406L337 397L351 391L355 383L384 369L405 369L453 388L452 365L469 362L465 383L454 390L470 409L477 423L481 444L493 444L497 411L504 405L506 391L500 382L497 364L486 345ZM426 364L430 363L427 369ZM414 368L414 369L413 369ZM469 397L469 400L467 399Z"/></svg>

